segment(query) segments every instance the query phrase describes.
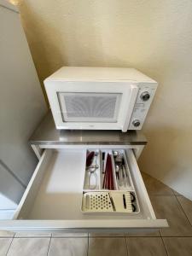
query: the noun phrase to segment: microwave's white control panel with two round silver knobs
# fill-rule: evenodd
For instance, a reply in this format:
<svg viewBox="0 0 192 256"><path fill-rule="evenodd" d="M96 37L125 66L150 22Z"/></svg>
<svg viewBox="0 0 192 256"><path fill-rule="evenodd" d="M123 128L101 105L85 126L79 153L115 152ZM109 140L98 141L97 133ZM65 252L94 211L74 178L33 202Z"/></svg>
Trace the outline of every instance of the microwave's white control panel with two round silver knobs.
<svg viewBox="0 0 192 256"><path fill-rule="evenodd" d="M155 90L156 86L154 84L142 84L139 86L129 130L140 130L142 128L148 109L153 101Z"/></svg>

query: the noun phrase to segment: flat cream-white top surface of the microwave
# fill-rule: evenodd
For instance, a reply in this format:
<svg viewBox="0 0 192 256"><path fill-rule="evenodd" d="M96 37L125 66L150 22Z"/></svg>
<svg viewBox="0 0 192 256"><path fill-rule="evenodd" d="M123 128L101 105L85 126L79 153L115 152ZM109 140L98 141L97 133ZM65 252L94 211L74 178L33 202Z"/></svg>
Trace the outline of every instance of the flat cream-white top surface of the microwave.
<svg viewBox="0 0 192 256"><path fill-rule="evenodd" d="M131 81L156 83L135 68L128 67L61 67L45 79L51 81Z"/></svg>

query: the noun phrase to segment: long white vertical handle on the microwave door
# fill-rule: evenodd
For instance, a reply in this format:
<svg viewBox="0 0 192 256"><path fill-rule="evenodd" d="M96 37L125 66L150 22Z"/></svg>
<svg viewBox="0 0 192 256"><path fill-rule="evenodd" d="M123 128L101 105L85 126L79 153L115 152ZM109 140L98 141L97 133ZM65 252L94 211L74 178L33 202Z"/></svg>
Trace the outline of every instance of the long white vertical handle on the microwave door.
<svg viewBox="0 0 192 256"><path fill-rule="evenodd" d="M135 102L137 99L137 93L138 93L138 87L136 85L131 85L131 92L130 92L130 98L129 103L127 105L126 111L125 111L125 122L122 126L122 131L126 132L128 130L130 121L131 121L131 115L133 112L133 108L135 106Z"/></svg>

